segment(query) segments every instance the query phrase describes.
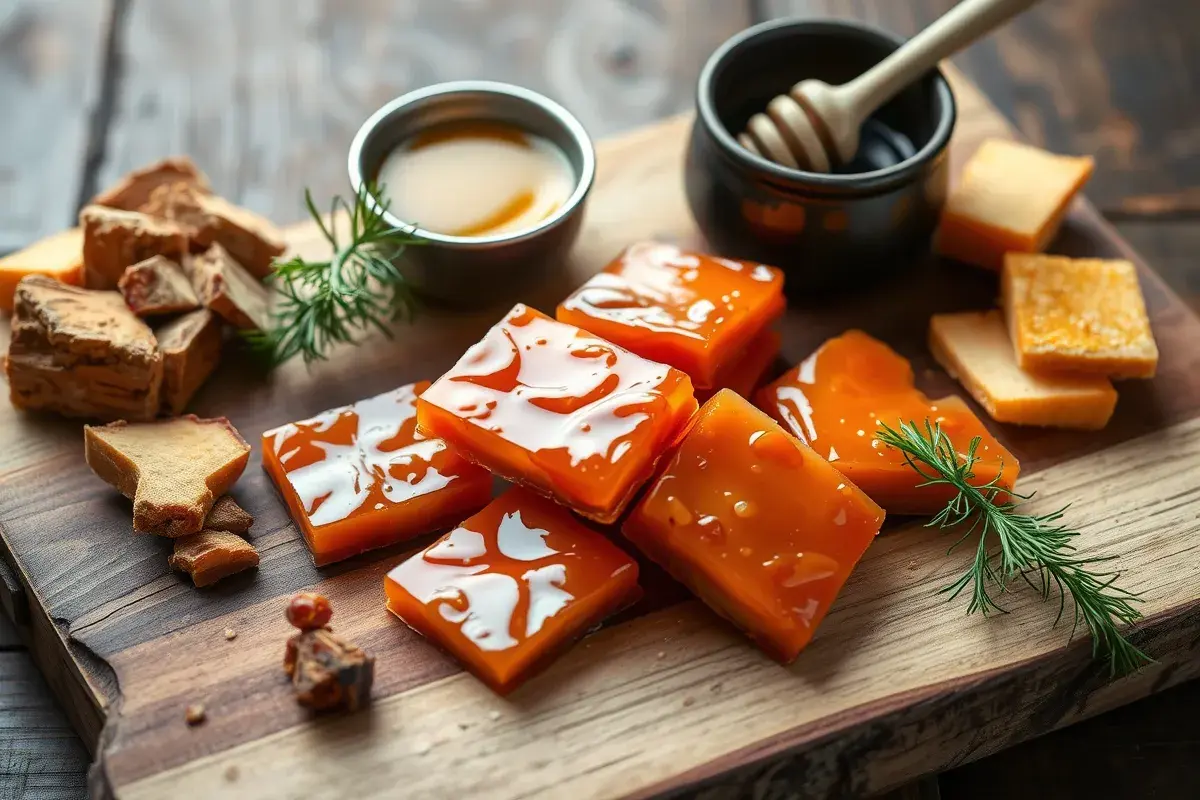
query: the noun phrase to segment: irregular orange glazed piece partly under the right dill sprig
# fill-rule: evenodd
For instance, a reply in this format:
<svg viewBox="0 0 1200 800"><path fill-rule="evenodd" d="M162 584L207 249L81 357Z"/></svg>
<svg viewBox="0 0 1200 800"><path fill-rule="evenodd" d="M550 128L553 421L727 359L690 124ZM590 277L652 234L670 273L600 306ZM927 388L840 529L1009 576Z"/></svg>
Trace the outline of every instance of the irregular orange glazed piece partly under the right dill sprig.
<svg viewBox="0 0 1200 800"><path fill-rule="evenodd" d="M1000 477L1013 488L1020 464L967 404L955 396L930 399L913 386L912 366L883 342L847 331L764 386L758 408L887 509L888 513L936 513L954 495L948 486L919 486L924 479L904 456L875 439L878 425L936 422L965 453L974 437L974 482Z"/></svg>

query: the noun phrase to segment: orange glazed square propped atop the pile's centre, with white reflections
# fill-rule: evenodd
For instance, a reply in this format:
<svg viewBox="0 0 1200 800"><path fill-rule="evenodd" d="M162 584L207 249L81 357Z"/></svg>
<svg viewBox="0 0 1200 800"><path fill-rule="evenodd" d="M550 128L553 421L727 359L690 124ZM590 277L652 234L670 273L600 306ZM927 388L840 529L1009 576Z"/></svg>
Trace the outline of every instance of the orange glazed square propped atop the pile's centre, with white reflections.
<svg viewBox="0 0 1200 800"><path fill-rule="evenodd" d="M420 429L613 522L696 410L688 375L517 305L421 395Z"/></svg>

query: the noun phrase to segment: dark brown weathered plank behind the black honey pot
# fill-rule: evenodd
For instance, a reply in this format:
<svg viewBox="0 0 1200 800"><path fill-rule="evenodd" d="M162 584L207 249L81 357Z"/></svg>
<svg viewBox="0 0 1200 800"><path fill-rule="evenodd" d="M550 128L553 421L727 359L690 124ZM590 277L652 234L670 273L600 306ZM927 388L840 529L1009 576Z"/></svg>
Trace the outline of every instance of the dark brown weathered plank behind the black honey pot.
<svg viewBox="0 0 1200 800"><path fill-rule="evenodd" d="M763 12L852 17L911 36L954 2L764 0ZM1200 211L1193 0L1043 2L954 62L1026 139L1096 157L1087 194L1102 211Z"/></svg>

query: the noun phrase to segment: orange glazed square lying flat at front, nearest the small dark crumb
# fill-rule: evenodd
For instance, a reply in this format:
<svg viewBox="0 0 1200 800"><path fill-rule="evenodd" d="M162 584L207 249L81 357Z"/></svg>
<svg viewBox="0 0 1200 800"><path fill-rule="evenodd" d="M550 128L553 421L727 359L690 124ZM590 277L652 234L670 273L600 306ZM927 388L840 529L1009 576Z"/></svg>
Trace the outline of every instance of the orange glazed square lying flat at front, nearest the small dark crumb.
<svg viewBox="0 0 1200 800"><path fill-rule="evenodd" d="M637 564L515 487L384 579L388 609L505 693L637 599Z"/></svg>

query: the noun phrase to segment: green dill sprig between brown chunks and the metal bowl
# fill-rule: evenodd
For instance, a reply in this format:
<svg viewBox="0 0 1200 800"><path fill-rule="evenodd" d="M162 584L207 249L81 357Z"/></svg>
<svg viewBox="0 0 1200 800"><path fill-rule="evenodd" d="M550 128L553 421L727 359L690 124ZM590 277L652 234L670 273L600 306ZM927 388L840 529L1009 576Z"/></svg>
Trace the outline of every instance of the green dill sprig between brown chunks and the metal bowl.
<svg viewBox="0 0 1200 800"><path fill-rule="evenodd" d="M328 222L308 190L305 205L332 255L324 261L294 257L275 263L270 281L277 296L271 326L247 333L252 347L274 363L296 355L305 363L322 361L335 344L354 343L371 329L390 338L388 324L412 320L416 312L413 291L394 259L424 240L413 229L396 228L384 218L388 201L376 186L364 185L353 203L335 197ZM337 231L338 212L349 219L344 242Z"/></svg>

